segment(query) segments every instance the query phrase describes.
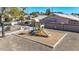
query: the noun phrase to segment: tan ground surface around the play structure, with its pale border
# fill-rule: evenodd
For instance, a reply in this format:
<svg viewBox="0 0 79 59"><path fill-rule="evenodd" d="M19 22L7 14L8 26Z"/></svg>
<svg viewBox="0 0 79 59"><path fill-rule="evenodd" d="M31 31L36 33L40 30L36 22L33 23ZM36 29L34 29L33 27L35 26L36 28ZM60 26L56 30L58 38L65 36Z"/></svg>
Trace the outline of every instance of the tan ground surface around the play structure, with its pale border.
<svg viewBox="0 0 79 59"><path fill-rule="evenodd" d="M56 31L51 29L45 29L51 36L49 37L40 37L33 36L28 33L28 31L20 31L17 34L14 34L20 38L31 40L33 42L37 42L39 44L48 46L50 48L55 48L57 44L67 35L67 33L63 31Z"/></svg>

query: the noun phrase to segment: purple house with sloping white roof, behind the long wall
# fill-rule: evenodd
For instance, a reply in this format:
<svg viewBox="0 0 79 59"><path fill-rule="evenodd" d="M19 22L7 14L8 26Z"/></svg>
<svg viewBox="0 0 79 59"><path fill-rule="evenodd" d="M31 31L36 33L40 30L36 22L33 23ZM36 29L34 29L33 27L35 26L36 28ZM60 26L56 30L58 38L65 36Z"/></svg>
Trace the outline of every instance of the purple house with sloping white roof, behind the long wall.
<svg viewBox="0 0 79 59"><path fill-rule="evenodd" d="M50 22L63 23L63 24L78 24L79 18L73 15L54 13L54 16L48 16L42 19L42 23L50 23Z"/></svg>

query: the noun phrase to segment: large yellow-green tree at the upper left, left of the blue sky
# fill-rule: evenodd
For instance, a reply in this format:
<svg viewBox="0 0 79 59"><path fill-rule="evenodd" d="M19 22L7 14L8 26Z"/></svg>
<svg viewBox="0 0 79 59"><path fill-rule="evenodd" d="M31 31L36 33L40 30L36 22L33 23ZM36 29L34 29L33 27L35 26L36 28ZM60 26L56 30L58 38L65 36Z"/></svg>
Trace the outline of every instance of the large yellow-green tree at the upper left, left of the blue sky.
<svg viewBox="0 0 79 59"><path fill-rule="evenodd" d="M20 7L11 8L9 13L11 14L11 16L13 16L13 18L19 18L19 20L21 20L21 23L24 20L23 19L23 16L25 15L24 14L24 9L21 9Z"/></svg>

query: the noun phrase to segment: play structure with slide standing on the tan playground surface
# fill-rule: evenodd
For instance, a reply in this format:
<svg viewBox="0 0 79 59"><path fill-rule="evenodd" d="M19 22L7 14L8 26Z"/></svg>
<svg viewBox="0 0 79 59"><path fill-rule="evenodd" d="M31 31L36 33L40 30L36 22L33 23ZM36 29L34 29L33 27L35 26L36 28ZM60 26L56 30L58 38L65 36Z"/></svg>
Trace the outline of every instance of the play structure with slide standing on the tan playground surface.
<svg viewBox="0 0 79 59"><path fill-rule="evenodd" d="M48 33L44 30L44 25L41 24L39 19L34 19L32 21L33 25L33 30L31 30L30 34L31 35L36 35L36 36L42 36L42 37L48 37Z"/></svg>

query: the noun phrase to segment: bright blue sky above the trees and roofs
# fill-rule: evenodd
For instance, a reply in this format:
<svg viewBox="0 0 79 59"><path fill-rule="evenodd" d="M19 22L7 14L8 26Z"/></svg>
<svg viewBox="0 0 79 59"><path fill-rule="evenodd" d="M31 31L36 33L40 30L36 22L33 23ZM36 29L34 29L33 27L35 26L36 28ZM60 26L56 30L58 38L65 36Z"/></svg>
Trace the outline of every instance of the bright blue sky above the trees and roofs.
<svg viewBox="0 0 79 59"><path fill-rule="evenodd" d="M63 12L66 14L79 13L79 7L27 7L25 12L45 12L48 8L50 8L51 12Z"/></svg>

